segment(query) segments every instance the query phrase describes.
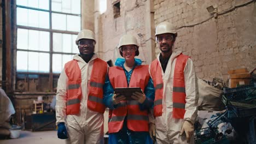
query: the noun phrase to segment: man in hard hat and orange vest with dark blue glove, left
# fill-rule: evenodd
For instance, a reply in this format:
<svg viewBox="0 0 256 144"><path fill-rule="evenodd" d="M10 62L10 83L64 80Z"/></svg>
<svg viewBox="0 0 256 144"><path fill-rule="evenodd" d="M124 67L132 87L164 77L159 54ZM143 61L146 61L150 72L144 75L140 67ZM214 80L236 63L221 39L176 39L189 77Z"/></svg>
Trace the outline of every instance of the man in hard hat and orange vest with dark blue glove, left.
<svg viewBox="0 0 256 144"><path fill-rule="evenodd" d="M103 85L107 63L94 53L95 35L78 33L79 54L65 64L56 95L57 135L66 143L103 143Z"/></svg>

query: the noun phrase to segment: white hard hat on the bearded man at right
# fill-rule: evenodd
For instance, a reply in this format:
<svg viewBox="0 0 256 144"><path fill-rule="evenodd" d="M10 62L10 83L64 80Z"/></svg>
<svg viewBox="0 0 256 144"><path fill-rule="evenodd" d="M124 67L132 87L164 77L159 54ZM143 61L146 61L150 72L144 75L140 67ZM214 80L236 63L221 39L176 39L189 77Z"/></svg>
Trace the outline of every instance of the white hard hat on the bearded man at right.
<svg viewBox="0 0 256 144"><path fill-rule="evenodd" d="M177 37L177 31L170 22L161 22L155 28L155 36L163 33L173 33Z"/></svg>

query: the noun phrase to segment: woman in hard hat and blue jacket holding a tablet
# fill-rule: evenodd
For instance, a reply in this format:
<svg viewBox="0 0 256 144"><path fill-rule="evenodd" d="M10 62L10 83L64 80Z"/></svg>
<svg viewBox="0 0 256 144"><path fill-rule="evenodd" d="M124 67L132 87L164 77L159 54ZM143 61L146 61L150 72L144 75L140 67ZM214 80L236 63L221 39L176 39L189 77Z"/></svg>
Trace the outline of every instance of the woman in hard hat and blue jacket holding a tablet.
<svg viewBox="0 0 256 144"><path fill-rule="evenodd" d="M153 107L154 86L148 65L142 65L135 37L126 34L119 41L119 52L115 67L109 68L104 85L104 104L109 107L109 143L152 143L149 136L148 111ZM118 87L140 87L133 100L115 93Z"/></svg>

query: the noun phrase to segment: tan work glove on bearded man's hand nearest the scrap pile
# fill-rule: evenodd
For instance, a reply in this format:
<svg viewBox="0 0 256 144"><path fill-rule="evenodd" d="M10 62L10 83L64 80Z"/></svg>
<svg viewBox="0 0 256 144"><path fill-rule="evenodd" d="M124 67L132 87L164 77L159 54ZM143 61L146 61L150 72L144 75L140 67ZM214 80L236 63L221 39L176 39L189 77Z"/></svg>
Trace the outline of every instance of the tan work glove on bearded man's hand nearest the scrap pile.
<svg viewBox="0 0 256 144"><path fill-rule="evenodd" d="M194 136L194 125L193 125L193 123L185 120L183 125L182 125L180 135L182 135L184 132L185 132L186 137L187 137L187 142L189 142L190 138L192 136Z"/></svg>

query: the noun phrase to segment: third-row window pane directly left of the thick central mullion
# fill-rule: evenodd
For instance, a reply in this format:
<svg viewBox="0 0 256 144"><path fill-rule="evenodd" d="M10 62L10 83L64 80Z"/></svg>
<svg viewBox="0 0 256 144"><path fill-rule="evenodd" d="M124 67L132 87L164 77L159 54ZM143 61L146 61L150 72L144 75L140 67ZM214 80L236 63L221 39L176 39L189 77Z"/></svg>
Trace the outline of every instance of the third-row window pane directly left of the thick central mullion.
<svg viewBox="0 0 256 144"><path fill-rule="evenodd" d="M49 51L50 50L50 33L40 31L39 33L39 50Z"/></svg>

